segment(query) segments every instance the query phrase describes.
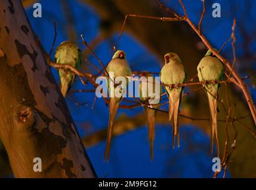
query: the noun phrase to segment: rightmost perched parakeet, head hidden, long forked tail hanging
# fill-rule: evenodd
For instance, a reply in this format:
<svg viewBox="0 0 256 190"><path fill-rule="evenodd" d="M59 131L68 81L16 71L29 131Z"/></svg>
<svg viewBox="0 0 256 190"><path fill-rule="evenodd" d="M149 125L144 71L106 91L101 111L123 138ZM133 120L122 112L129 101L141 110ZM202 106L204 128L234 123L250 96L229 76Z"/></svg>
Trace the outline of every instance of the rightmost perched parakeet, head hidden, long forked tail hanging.
<svg viewBox="0 0 256 190"><path fill-rule="evenodd" d="M216 50L216 49L215 49ZM216 50L217 52L217 50ZM198 64L198 78L199 81L203 82L202 85L205 87L206 95L208 97L209 108L211 112L211 153L213 150L214 135L217 143L217 153L219 157L218 147L218 133L217 133L217 99L220 84L218 81L223 77L223 65L211 50L205 54ZM207 81L207 83L205 83Z"/></svg>

